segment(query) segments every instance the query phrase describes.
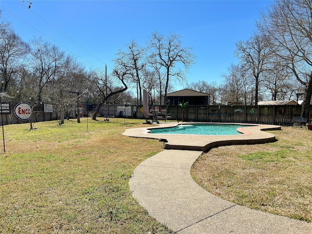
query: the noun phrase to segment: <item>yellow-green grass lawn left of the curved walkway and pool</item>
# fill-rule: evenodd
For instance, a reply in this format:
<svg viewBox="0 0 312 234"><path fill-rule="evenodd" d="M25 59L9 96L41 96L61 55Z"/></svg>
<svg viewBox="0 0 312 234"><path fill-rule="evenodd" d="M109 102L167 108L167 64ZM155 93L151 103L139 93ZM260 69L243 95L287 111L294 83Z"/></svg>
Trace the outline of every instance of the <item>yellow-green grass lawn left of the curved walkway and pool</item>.
<svg viewBox="0 0 312 234"><path fill-rule="evenodd" d="M101 118L98 118L101 120ZM140 207L128 181L162 143L121 135L142 120L86 118L4 126L1 234L171 234ZM2 137L1 137L2 141ZM2 144L0 143L2 147Z"/></svg>

